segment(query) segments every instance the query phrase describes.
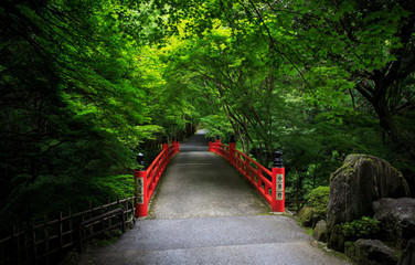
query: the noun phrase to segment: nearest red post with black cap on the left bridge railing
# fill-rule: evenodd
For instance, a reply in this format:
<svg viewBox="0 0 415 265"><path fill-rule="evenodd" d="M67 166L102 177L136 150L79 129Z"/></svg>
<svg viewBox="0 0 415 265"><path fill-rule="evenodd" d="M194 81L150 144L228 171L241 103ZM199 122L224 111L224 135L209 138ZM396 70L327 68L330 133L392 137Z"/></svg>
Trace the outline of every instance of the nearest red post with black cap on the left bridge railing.
<svg viewBox="0 0 415 265"><path fill-rule="evenodd" d="M137 155L137 162L141 166L138 170L134 171L134 178L136 182L136 218L147 216L147 171L145 170L145 156L142 153Z"/></svg>

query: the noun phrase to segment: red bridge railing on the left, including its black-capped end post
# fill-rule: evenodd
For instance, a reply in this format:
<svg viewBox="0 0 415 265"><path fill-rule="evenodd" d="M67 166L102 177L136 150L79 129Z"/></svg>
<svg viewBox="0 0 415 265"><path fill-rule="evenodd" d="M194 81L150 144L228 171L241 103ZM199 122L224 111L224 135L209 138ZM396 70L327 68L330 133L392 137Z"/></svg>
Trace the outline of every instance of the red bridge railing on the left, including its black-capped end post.
<svg viewBox="0 0 415 265"><path fill-rule="evenodd" d="M180 151L180 142L172 140L172 144L167 144L164 138L162 150L152 161L152 163L145 170L134 171L134 179L136 183L136 218L143 218L148 214L148 203L157 188L157 184L163 173L166 167L169 165L170 159ZM143 156L141 153L137 157L138 162L143 167Z"/></svg>

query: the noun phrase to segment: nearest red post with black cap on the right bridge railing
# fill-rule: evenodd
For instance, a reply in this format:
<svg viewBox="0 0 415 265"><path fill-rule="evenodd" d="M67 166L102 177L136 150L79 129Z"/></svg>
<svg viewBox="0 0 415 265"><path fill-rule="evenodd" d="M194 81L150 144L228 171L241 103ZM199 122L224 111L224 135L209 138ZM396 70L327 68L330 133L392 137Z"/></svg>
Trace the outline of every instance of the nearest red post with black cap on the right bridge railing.
<svg viewBox="0 0 415 265"><path fill-rule="evenodd" d="M281 156L281 151L274 152L272 188L273 197L270 202L270 210L273 212L285 211L285 168Z"/></svg>

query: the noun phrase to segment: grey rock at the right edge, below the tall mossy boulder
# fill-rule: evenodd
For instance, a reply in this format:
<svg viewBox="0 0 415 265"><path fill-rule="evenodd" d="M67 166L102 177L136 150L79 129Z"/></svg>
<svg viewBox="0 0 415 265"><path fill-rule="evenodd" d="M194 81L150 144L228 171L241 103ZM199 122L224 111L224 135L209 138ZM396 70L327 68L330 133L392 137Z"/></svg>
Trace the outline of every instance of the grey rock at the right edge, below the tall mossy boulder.
<svg viewBox="0 0 415 265"><path fill-rule="evenodd" d="M400 250L415 237L415 199L383 198L373 202L373 219L381 221L383 236Z"/></svg>

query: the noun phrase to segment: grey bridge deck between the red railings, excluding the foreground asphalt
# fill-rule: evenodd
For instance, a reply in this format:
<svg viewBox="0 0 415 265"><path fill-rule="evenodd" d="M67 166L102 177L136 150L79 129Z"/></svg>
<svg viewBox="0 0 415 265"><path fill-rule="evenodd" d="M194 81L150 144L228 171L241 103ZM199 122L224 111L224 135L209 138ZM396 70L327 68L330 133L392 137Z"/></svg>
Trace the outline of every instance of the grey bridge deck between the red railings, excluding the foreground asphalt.
<svg viewBox="0 0 415 265"><path fill-rule="evenodd" d="M180 147L162 178L151 219L182 219L268 213L269 205L236 169L208 152L204 135L196 134Z"/></svg>

